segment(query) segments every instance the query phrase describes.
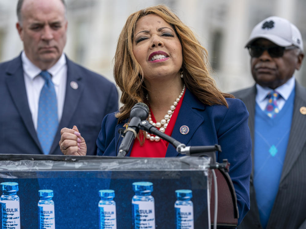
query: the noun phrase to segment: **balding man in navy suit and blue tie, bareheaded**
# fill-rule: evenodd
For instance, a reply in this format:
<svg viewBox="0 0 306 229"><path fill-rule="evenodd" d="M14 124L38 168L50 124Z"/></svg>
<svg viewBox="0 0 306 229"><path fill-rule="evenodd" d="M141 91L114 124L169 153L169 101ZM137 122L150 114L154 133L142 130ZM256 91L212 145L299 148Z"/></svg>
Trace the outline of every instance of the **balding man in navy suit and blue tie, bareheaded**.
<svg viewBox="0 0 306 229"><path fill-rule="evenodd" d="M62 154L63 127L78 127L96 154L103 117L118 109L115 85L65 56L64 0L19 0L24 51L0 64L0 153Z"/></svg>

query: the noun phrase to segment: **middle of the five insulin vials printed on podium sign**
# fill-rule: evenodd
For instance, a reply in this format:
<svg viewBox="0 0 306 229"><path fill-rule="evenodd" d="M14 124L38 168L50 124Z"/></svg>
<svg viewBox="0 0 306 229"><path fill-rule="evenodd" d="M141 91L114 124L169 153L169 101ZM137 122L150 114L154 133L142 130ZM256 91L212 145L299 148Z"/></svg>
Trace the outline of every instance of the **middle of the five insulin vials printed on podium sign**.
<svg viewBox="0 0 306 229"><path fill-rule="evenodd" d="M99 196L99 229L117 229L116 203L114 202L114 190L100 190Z"/></svg>

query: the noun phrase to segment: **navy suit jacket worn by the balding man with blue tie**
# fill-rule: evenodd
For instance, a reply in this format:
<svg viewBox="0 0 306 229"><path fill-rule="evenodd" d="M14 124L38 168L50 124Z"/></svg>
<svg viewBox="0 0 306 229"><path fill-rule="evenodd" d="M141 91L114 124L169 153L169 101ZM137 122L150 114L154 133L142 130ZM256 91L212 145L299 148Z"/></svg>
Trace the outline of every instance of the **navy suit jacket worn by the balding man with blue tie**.
<svg viewBox="0 0 306 229"><path fill-rule="evenodd" d="M61 154L61 129L76 125L86 140L87 154L96 154L95 140L103 117L118 110L116 86L101 75L67 57L67 86L64 109L50 154ZM78 84L77 89L70 82ZM0 64L0 153L43 154L24 85L21 55Z"/></svg>

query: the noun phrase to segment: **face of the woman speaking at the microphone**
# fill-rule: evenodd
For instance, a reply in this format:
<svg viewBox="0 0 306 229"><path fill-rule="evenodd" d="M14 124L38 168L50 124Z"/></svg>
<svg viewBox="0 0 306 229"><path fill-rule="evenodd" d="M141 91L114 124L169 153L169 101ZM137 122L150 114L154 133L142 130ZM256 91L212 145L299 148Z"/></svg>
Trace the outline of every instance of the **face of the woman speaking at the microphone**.
<svg viewBox="0 0 306 229"><path fill-rule="evenodd" d="M137 21L133 53L146 80L180 75L183 63L181 42L172 26L155 14Z"/></svg>

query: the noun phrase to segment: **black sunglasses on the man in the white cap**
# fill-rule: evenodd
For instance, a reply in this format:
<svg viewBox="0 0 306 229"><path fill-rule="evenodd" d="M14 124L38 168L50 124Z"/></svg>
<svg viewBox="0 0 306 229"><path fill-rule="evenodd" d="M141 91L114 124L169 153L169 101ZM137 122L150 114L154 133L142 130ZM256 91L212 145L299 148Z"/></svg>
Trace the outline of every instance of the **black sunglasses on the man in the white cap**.
<svg viewBox="0 0 306 229"><path fill-rule="evenodd" d="M249 45L247 48L252 57L261 56L265 50L268 51L271 57L282 57L284 55L285 50L297 49L297 46L291 45L288 47L281 47L281 46L262 47L256 45Z"/></svg>

